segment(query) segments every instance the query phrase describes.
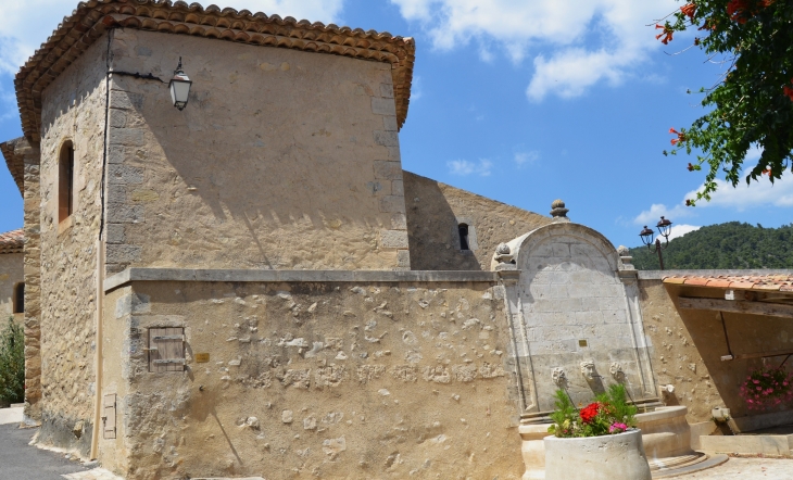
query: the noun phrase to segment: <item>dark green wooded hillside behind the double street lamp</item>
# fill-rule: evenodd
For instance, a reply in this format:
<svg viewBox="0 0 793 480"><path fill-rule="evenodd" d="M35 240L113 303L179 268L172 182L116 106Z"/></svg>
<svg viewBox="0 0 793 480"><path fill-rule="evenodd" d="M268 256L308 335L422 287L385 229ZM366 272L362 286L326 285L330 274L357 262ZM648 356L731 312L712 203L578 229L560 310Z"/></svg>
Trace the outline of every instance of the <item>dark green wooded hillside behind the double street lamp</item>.
<svg viewBox="0 0 793 480"><path fill-rule="evenodd" d="M658 255L646 247L630 252L637 269L658 269ZM666 269L793 268L793 224L763 228L759 224L730 222L702 227L669 242L664 250L664 266Z"/></svg>

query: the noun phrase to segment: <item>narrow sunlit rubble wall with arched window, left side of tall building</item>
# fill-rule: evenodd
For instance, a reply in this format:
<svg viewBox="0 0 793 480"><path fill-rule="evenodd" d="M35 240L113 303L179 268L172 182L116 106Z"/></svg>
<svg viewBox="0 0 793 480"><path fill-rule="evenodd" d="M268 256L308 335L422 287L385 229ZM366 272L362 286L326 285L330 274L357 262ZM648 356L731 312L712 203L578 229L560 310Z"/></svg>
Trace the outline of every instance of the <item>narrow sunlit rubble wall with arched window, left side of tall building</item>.
<svg viewBox="0 0 793 480"><path fill-rule="evenodd" d="M93 43L42 93L39 442L84 454L93 417L106 46ZM74 213L59 225L58 165L66 140L74 144Z"/></svg>

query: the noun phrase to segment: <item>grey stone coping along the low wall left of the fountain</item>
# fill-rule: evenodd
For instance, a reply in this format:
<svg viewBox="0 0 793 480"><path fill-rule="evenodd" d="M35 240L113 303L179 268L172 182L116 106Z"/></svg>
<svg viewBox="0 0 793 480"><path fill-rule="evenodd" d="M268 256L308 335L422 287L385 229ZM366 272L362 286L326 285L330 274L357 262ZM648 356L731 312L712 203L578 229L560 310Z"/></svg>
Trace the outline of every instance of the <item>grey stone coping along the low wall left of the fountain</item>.
<svg viewBox="0 0 793 480"><path fill-rule="evenodd" d="M486 282L496 283L495 271L477 270L252 270L194 268L127 268L104 280L104 291L134 281L246 282Z"/></svg>

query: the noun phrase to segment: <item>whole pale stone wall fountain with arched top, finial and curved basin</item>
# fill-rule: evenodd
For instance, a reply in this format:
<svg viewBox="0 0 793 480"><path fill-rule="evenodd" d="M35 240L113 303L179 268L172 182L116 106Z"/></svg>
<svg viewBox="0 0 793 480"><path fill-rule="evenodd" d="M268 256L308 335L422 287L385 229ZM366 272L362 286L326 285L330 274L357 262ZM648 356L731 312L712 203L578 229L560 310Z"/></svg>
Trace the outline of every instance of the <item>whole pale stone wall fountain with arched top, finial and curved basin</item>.
<svg viewBox="0 0 793 480"><path fill-rule="evenodd" d="M557 203L554 212L566 214ZM659 402L637 270L602 235L564 214L493 256L511 320L524 479L544 478L542 439L556 390L584 405L612 383L624 384L643 412L637 419L654 477L703 463L691 449L687 407Z"/></svg>

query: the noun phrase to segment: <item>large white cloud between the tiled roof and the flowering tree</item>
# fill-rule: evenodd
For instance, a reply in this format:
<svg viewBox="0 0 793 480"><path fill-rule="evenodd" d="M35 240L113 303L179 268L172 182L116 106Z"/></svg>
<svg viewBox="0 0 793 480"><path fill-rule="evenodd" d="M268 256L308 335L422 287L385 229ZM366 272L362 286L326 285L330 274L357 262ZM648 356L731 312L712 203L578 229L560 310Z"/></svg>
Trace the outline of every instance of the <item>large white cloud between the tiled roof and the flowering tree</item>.
<svg viewBox="0 0 793 480"><path fill-rule="evenodd" d="M488 60L495 43L516 63L539 50L527 88L533 101L580 96L600 81L619 85L662 47L647 23L679 8L674 0L390 1L426 28L439 50L475 41Z"/></svg>

